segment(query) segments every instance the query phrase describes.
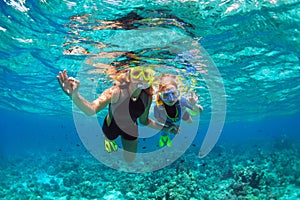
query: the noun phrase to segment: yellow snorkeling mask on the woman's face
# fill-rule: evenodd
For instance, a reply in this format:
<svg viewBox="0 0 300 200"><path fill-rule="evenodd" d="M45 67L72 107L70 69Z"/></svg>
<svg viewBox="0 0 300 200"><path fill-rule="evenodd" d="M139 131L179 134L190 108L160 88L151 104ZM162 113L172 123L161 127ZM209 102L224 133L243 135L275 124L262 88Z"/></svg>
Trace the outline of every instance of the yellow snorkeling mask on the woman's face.
<svg viewBox="0 0 300 200"><path fill-rule="evenodd" d="M137 87L146 89L153 83L154 70L150 68L135 67L130 69L130 78L138 82Z"/></svg>

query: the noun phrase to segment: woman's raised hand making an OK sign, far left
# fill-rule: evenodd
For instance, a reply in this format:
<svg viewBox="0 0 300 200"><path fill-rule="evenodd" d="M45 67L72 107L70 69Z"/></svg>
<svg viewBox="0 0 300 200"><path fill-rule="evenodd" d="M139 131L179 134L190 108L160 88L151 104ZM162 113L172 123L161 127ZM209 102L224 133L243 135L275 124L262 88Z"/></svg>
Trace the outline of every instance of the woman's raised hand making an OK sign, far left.
<svg viewBox="0 0 300 200"><path fill-rule="evenodd" d="M78 92L80 82L73 77L68 77L67 70L59 72L56 77L62 90L69 96L72 97L73 94Z"/></svg>

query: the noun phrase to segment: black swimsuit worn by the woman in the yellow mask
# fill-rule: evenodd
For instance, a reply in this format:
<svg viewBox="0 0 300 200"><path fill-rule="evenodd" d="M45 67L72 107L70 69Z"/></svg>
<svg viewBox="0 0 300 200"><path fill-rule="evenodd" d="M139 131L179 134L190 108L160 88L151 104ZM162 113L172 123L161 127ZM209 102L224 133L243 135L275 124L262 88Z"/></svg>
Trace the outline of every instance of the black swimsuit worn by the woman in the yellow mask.
<svg viewBox="0 0 300 200"><path fill-rule="evenodd" d="M105 136L109 140L115 140L118 136L126 140L136 140L138 137L138 126L137 119L145 112L145 108L148 104L149 95L142 90L139 97L133 101L130 97L125 99L122 103L120 103L112 112L112 105L109 104L109 117L111 118L110 125L107 124L107 120L105 118L102 131ZM129 105L129 107L128 107ZM129 110L128 110L129 109ZM121 116L124 117L124 114L130 115L130 118L117 118L115 117ZM107 117L107 116L106 116ZM126 123L126 127L128 129L121 129L118 126L118 123Z"/></svg>

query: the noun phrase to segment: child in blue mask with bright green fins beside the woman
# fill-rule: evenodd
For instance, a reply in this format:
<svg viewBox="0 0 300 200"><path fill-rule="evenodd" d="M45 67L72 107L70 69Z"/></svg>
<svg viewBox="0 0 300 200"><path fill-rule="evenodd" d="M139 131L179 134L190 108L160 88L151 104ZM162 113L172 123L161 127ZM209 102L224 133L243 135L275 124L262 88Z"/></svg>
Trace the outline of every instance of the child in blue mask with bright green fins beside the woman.
<svg viewBox="0 0 300 200"><path fill-rule="evenodd" d="M186 108L195 113L203 111L202 106L196 104L197 97L193 95L189 101L180 96L180 91L174 76L164 75L161 78L161 83L158 88L156 97L156 105L154 107L154 117L165 126L177 126L177 133L179 132L179 125L181 119L187 123L192 122L190 114ZM168 133L161 131L159 139L159 146L164 145L171 147L172 142Z"/></svg>

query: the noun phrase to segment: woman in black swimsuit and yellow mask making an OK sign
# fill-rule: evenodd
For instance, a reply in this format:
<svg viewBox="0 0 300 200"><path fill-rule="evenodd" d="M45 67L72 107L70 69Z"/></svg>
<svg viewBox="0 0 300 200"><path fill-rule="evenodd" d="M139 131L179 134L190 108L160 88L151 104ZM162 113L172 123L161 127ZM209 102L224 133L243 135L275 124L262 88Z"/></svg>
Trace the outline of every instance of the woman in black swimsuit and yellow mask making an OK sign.
<svg viewBox="0 0 300 200"><path fill-rule="evenodd" d="M135 158L138 142L138 121L143 125L165 132L174 132L174 127L166 127L149 119L149 109L152 102L152 82L154 71L149 68L135 67L125 70L114 78L118 82L106 89L93 102L83 98L78 90L79 80L68 77L67 71L59 72L58 82L63 91L87 115L94 115L107 105L109 111L103 123L105 149L116 151L114 140L121 136L124 157L127 162Z"/></svg>

